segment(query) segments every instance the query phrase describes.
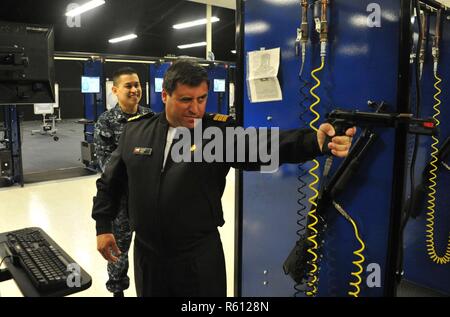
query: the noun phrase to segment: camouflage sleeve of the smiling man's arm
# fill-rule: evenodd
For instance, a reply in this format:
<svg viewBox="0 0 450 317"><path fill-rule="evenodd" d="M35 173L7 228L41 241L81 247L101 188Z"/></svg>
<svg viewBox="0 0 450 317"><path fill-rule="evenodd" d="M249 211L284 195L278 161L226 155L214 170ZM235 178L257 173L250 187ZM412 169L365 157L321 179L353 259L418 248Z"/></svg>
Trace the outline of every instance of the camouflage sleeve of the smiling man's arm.
<svg viewBox="0 0 450 317"><path fill-rule="evenodd" d="M116 149L114 132L108 124L105 116L100 116L94 128L94 147L98 165L102 172L108 163L111 153Z"/></svg>

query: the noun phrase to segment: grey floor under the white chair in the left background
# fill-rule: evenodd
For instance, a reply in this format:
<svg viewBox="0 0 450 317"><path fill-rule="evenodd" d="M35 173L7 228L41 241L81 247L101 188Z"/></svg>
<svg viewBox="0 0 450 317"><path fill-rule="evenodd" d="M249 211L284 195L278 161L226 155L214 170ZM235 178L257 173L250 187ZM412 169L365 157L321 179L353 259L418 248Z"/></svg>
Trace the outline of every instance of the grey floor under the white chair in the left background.
<svg viewBox="0 0 450 317"><path fill-rule="evenodd" d="M57 142L48 134L31 134L32 130L42 130L41 121L22 122L24 175L84 166L80 159L84 126L75 121L76 119L71 119L56 123L56 135L59 137Z"/></svg>

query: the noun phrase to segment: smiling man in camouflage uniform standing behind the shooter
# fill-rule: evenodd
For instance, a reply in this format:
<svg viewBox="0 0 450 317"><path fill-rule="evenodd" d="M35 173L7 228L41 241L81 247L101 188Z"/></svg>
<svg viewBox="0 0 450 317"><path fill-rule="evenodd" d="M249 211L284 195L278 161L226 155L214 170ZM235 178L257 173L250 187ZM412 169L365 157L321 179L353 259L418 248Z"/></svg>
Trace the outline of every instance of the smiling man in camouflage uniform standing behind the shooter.
<svg viewBox="0 0 450 317"><path fill-rule="evenodd" d="M113 75L113 93L117 96L116 106L100 115L95 124L94 145L98 165L102 172L108 163L111 153L117 148L120 135L129 118L150 112L150 109L139 106L142 89L136 71L126 67L117 70ZM106 288L115 297L122 297L123 291L130 285L128 272L128 250L131 244L131 229L128 222L128 199L123 193L120 211L113 221L114 236L121 251L116 263L109 262Z"/></svg>

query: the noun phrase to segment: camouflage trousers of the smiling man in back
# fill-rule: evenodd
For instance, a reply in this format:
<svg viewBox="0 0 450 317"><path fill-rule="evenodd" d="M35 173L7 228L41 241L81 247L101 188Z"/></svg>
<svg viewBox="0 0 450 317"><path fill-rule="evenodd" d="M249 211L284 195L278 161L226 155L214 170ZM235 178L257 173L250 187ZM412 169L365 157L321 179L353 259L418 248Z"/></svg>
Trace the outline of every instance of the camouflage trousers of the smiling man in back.
<svg viewBox="0 0 450 317"><path fill-rule="evenodd" d="M128 277L128 250L131 244L131 229L128 221L126 199L122 199L121 208L117 218L113 221L113 234L117 246L121 251L119 260L116 263L108 262L108 276L106 289L111 293L122 292L130 286Z"/></svg>

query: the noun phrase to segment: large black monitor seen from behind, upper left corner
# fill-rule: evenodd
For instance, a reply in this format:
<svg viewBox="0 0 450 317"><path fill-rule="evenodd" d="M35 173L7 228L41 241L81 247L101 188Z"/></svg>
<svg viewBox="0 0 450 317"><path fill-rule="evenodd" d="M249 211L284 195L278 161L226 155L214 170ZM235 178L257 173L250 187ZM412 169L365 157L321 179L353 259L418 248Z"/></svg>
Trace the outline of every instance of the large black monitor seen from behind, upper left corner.
<svg viewBox="0 0 450 317"><path fill-rule="evenodd" d="M53 27L0 21L0 105L54 103Z"/></svg>

